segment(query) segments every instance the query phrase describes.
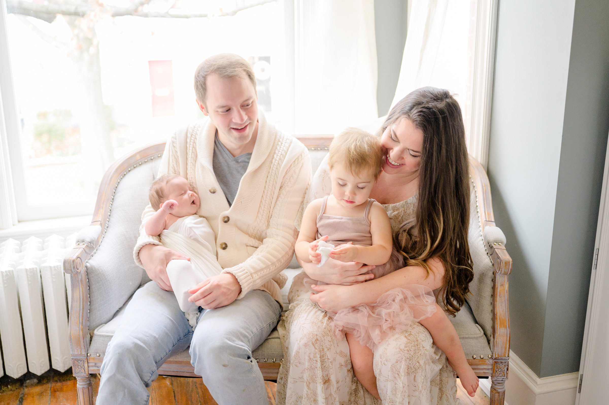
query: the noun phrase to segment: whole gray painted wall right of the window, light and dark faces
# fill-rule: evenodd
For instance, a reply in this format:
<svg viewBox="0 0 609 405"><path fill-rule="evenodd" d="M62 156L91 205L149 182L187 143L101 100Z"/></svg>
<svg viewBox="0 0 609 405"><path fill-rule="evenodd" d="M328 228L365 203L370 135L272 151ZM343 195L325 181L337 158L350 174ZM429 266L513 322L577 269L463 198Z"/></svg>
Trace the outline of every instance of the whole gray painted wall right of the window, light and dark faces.
<svg viewBox="0 0 609 405"><path fill-rule="evenodd" d="M604 0L499 2L488 176L513 258L512 350L576 372L609 131Z"/></svg>

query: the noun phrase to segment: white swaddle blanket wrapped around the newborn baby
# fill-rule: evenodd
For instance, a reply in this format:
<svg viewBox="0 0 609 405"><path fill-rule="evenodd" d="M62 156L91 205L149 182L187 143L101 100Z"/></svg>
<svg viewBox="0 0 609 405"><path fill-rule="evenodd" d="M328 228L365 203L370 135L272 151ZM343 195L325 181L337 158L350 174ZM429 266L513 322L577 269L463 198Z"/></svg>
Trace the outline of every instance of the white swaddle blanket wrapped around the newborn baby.
<svg viewBox="0 0 609 405"><path fill-rule="evenodd" d="M170 261L167 264L167 276L181 311L185 312L188 322L194 328L199 307L188 302L192 295L188 290L207 278L222 273L222 267L216 259L214 231L205 218L191 215L178 219L169 229L163 230L160 236L164 247L190 258L190 261Z"/></svg>

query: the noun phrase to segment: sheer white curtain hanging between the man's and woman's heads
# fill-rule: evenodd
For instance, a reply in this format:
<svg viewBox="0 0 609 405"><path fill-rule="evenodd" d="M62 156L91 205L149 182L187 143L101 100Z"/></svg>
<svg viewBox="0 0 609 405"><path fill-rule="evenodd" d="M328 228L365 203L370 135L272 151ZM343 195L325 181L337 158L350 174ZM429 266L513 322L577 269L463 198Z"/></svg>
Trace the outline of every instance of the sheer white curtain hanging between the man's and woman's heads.
<svg viewBox="0 0 609 405"><path fill-rule="evenodd" d="M378 117L373 0L295 0L294 133Z"/></svg>

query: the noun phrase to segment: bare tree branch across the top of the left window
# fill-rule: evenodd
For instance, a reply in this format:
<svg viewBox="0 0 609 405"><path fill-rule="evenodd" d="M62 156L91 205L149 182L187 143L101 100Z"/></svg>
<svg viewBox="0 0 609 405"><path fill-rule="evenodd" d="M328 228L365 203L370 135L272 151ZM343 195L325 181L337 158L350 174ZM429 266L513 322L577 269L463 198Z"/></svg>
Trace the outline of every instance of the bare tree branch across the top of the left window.
<svg viewBox="0 0 609 405"><path fill-rule="evenodd" d="M275 0L259 0L251 4L237 7L233 10L228 10L219 13L190 13L183 12L177 9L169 9L166 12L146 12L141 10L141 6L148 3L150 0L139 0L132 4L130 7L113 7L105 6L104 9L110 13L110 16L119 17L125 15L131 15L136 17L144 18L208 18L208 17L222 17L222 16L233 16L236 13L257 7L258 5L267 4L274 2ZM89 3L79 4L37 4L23 0L7 0L7 10L9 13L27 15L30 17L42 19L48 23L52 23L55 16L71 15L83 17L89 13L97 11L98 9Z"/></svg>

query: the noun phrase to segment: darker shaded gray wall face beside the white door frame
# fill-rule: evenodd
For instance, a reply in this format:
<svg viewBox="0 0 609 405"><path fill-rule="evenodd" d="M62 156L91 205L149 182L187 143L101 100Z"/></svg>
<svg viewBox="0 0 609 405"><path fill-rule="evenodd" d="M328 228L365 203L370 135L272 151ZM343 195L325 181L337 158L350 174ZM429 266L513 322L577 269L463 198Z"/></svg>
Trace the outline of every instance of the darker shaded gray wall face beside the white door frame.
<svg viewBox="0 0 609 405"><path fill-rule="evenodd" d="M576 1L541 376L579 370L609 133L607 21L607 0Z"/></svg>

